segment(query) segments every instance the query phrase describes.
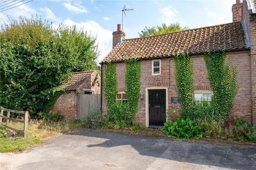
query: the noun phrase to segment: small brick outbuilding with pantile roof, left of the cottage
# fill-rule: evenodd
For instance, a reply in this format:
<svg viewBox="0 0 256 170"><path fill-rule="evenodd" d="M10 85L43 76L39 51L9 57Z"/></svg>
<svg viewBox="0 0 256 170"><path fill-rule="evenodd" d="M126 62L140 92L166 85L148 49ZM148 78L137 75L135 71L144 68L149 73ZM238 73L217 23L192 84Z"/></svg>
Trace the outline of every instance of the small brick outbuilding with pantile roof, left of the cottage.
<svg viewBox="0 0 256 170"><path fill-rule="evenodd" d="M100 94L100 75L97 71L75 72L63 82L65 93L56 101L51 112L64 115L67 120L79 118L79 97Z"/></svg>

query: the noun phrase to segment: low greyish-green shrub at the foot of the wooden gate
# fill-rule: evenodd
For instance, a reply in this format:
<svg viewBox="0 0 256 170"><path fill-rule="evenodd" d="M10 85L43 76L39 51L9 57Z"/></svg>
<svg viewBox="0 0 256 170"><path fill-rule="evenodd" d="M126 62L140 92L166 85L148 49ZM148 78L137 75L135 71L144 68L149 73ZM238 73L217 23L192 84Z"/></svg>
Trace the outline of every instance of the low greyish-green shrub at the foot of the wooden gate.
<svg viewBox="0 0 256 170"><path fill-rule="evenodd" d="M102 115L100 111L89 113L83 120L81 120L84 128L98 129L106 126L107 116Z"/></svg>

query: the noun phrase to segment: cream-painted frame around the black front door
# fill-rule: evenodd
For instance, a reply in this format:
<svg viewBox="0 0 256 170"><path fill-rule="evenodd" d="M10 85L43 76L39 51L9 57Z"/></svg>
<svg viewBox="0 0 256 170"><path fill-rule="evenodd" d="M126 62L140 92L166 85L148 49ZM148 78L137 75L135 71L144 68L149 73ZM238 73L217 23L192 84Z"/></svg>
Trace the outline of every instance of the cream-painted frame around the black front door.
<svg viewBox="0 0 256 170"><path fill-rule="evenodd" d="M166 100L166 111L168 109L168 88L167 87L146 87L146 100L145 100L145 106L146 106L146 128L149 126L149 111L148 111L148 90L158 90L158 89L165 89L165 100ZM166 113L166 112L165 112ZM167 121L167 114L166 114L166 121Z"/></svg>

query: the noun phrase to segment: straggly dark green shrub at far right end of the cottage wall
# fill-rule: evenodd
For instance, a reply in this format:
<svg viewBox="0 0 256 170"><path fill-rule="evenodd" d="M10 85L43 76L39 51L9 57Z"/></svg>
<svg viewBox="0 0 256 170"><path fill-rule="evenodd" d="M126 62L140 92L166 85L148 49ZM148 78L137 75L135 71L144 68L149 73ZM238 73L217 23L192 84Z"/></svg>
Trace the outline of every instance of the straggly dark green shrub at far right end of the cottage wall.
<svg viewBox="0 0 256 170"><path fill-rule="evenodd" d="M234 140L256 142L256 128L240 117L235 118L235 126L231 126L226 133L228 138Z"/></svg>

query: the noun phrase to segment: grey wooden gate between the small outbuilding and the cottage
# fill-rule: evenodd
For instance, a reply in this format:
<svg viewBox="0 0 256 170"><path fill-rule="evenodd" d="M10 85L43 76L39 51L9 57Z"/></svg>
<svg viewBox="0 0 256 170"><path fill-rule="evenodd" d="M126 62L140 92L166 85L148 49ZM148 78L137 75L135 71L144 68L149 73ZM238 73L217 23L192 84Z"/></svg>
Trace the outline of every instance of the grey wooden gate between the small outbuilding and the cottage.
<svg viewBox="0 0 256 170"><path fill-rule="evenodd" d="M84 118L90 112L100 111L100 95L79 95L79 118Z"/></svg>

